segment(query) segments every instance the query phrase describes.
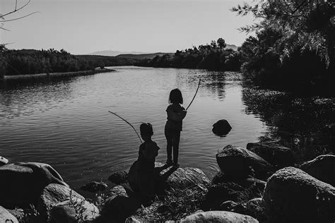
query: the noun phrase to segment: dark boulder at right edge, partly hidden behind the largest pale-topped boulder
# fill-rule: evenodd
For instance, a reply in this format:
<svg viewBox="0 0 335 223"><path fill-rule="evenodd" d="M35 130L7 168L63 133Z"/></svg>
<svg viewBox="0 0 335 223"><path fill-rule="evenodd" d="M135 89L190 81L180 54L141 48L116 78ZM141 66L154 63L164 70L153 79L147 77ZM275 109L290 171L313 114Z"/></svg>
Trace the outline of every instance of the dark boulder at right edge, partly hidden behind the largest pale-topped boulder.
<svg viewBox="0 0 335 223"><path fill-rule="evenodd" d="M320 181L335 186L335 155L321 155L305 162L300 169Z"/></svg>

